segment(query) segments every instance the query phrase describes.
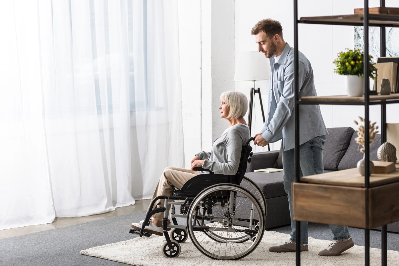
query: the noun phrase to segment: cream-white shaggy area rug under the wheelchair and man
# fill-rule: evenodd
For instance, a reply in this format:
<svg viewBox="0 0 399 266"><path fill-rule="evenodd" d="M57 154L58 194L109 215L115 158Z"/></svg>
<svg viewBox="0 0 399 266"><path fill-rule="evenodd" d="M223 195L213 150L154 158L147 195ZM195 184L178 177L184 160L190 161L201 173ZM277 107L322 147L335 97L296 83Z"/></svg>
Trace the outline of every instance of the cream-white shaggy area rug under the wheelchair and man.
<svg viewBox="0 0 399 266"><path fill-rule="evenodd" d="M182 251L177 258L165 258L161 251L161 246L165 242L165 238L155 235L152 235L150 238L143 236L104 246L96 246L82 250L81 254L136 266L294 266L295 252L269 252L269 246L279 245L287 240L289 240L289 234L265 231L259 246L241 260L213 260L208 258L197 250L190 241L190 238L185 243L180 243ZM318 256L320 250L326 248L330 242L329 240L319 240L309 237L309 251L301 252L301 264L304 266L364 265L364 246L355 245L340 256ZM388 250L388 265L397 265L398 261L399 252ZM380 249L370 248L370 265L381 265Z"/></svg>

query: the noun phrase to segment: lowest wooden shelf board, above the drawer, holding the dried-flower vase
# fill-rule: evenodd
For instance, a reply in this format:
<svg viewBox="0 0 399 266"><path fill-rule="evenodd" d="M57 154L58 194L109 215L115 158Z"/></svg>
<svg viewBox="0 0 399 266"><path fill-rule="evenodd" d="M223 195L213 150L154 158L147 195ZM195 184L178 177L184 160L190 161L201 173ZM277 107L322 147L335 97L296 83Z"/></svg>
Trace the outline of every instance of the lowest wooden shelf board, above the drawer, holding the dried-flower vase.
<svg viewBox="0 0 399 266"><path fill-rule="evenodd" d="M341 171L332 171L328 173L321 173L318 175L308 175L301 177L300 181L324 184L324 185L338 185L345 187L364 187L364 176L359 174L357 168L351 168ZM399 165L396 165L396 171L387 174L371 174L370 187L384 185L388 183L399 181Z"/></svg>

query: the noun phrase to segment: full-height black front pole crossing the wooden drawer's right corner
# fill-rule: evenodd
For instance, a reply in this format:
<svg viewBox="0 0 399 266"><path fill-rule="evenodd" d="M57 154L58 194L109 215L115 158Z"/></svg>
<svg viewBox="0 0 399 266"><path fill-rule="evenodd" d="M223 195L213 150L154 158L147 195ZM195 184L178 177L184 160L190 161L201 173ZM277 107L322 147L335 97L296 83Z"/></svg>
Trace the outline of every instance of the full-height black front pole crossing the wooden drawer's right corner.
<svg viewBox="0 0 399 266"><path fill-rule="evenodd" d="M365 246L365 266L370 265L370 230L369 227L369 204L368 189L370 187L370 155L369 155L369 1L364 0L364 154L365 154L365 171L364 171L364 187L366 189L365 211L366 211L366 228L364 229L364 246Z"/></svg>

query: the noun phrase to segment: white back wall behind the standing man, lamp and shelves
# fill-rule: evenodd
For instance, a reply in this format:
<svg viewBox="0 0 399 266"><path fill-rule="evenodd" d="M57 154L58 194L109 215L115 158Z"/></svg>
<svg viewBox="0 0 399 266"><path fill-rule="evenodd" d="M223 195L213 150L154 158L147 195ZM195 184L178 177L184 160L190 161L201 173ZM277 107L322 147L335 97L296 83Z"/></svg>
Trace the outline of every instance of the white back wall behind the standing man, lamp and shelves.
<svg viewBox="0 0 399 266"><path fill-rule="evenodd" d="M370 0L370 7L379 6L378 0ZM399 1L387 0L386 6L399 7ZM353 14L354 8L363 8L361 0L299 0L298 17L307 16L331 16L340 14ZM278 20L283 27L283 37L291 46L294 45L294 19L293 1L264 1L264 0L235 0L236 9L236 53L239 51L257 50L255 37L250 34L251 28L264 18ZM333 72L332 61L338 52L345 48L354 46L353 26L327 26L300 24L298 26L299 39L298 48L304 53L312 64L314 71L314 82L319 96L321 95L343 95L346 94L342 76ZM267 93L268 84L259 82L261 91ZM245 93L253 87L252 82L237 82L236 90ZM257 86L258 87L258 86ZM267 95L262 95L267 99ZM257 100L257 98L255 98ZM264 103L265 100L263 100ZM358 116L364 117L362 106L331 106L321 105L322 115L326 126L355 127L353 120ZM262 125L261 113L257 107L257 128ZM387 106L387 122L398 123L399 104ZM379 106L370 107L370 120L380 123ZM276 148L276 147L273 147ZM259 150L258 150L259 152Z"/></svg>

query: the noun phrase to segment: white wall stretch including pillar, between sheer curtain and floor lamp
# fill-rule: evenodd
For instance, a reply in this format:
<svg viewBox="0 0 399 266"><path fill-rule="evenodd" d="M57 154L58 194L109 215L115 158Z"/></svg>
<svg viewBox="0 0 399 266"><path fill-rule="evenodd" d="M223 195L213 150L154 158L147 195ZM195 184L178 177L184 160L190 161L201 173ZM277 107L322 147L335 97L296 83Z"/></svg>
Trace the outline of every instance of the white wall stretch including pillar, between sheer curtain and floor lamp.
<svg viewBox="0 0 399 266"><path fill-rule="evenodd" d="M220 94L234 90L235 4L231 0L180 0L180 75L186 167L211 150L229 123L220 118Z"/></svg>

